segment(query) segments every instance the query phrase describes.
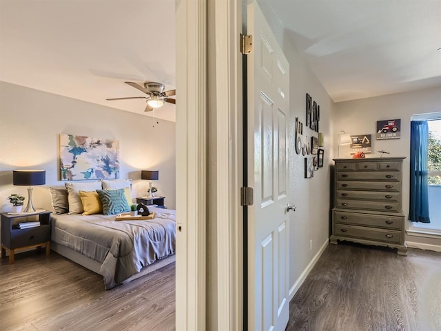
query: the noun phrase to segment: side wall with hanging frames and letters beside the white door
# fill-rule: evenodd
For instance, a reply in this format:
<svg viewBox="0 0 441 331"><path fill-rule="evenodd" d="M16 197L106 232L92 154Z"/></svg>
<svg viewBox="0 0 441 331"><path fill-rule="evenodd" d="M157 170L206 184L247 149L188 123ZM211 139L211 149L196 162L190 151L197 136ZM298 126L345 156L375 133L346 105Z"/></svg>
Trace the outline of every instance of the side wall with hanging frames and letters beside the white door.
<svg viewBox="0 0 441 331"><path fill-rule="evenodd" d="M276 35L278 43L289 61L290 68L289 201L297 205L297 211L291 213L290 217L289 285L291 295L293 295L294 291L297 290L294 285L300 285L298 281L301 281L300 278L304 276L302 273L307 270L316 254L320 253L320 248L329 239L329 164L331 162L329 128L334 103L287 37L287 32L283 26L280 26L274 12L265 3L260 3L260 8L262 8L265 18ZM309 139L311 139L311 135L317 137L317 133L305 125L307 93L320 105L320 132L325 135L324 167L314 172L314 178L311 179L304 178L305 157L296 154L294 148L296 117L304 123L303 133L307 134ZM311 250L309 249L310 240L312 240Z"/></svg>

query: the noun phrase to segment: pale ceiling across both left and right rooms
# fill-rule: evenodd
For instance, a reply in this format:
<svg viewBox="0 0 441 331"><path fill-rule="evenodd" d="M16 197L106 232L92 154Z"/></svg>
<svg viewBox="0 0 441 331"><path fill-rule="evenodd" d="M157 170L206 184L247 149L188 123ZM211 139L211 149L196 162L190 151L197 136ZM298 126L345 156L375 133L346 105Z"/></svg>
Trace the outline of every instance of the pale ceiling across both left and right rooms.
<svg viewBox="0 0 441 331"><path fill-rule="evenodd" d="M440 0L260 2L336 102L441 86ZM175 88L174 6L0 0L0 81L144 114L143 99L105 99L145 95L124 81Z"/></svg>

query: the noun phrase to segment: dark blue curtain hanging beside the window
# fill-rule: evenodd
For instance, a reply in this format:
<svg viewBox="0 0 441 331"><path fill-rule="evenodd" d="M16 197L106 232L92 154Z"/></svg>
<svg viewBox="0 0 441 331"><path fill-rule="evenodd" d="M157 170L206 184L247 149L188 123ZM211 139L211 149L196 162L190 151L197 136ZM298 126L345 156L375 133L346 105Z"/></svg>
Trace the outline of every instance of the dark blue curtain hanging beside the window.
<svg viewBox="0 0 441 331"><path fill-rule="evenodd" d="M429 126L427 121L411 121L411 192L409 220L430 223L427 156Z"/></svg>

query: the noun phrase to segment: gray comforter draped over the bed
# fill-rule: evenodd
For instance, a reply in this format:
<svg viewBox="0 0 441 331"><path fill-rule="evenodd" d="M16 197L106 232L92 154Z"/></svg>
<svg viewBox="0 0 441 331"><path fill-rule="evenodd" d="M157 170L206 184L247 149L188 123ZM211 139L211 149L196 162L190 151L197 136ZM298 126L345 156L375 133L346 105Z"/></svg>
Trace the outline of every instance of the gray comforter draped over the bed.
<svg viewBox="0 0 441 331"><path fill-rule="evenodd" d="M150 208L149 208L150 209ZM154 219L114 221L115 215L54 216L52 241L102 263L100 273L110 289L145 265L174 254L175 211L152 208Z"/></svg>

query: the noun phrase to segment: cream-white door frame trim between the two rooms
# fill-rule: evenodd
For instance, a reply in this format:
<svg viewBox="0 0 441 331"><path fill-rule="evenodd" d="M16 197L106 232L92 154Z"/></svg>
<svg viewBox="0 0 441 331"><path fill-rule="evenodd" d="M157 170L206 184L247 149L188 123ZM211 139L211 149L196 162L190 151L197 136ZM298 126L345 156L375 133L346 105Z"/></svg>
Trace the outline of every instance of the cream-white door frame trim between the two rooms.
<svg viewBox="0 0 441 331"><path fill-rule="evenodd" d="M242 55L238 42L243 1L176 0L178 331L207 330L207 319L216 319L218 330L243 327ZM210 10L208 2L213 6ZM207 37L207 20L216 22L214 36ZM212 45L216 66L207 68L207 48ZM215 75L214 85L208 85L208 74ZM215 109L208 109L208 95L216 95ZM209 111L215 116L209 117ZM215 150L207 149L207 121L216 121ZM217 161L215 190L207 188L209 153ZM215 201L209 206L216 210L215 234L207 232L208 201ZM217 242L216 261L207 261L210 240ZM207 263L216 263L217 298L207 299ZM208 300L215 312L206 310Z"/></svg>

